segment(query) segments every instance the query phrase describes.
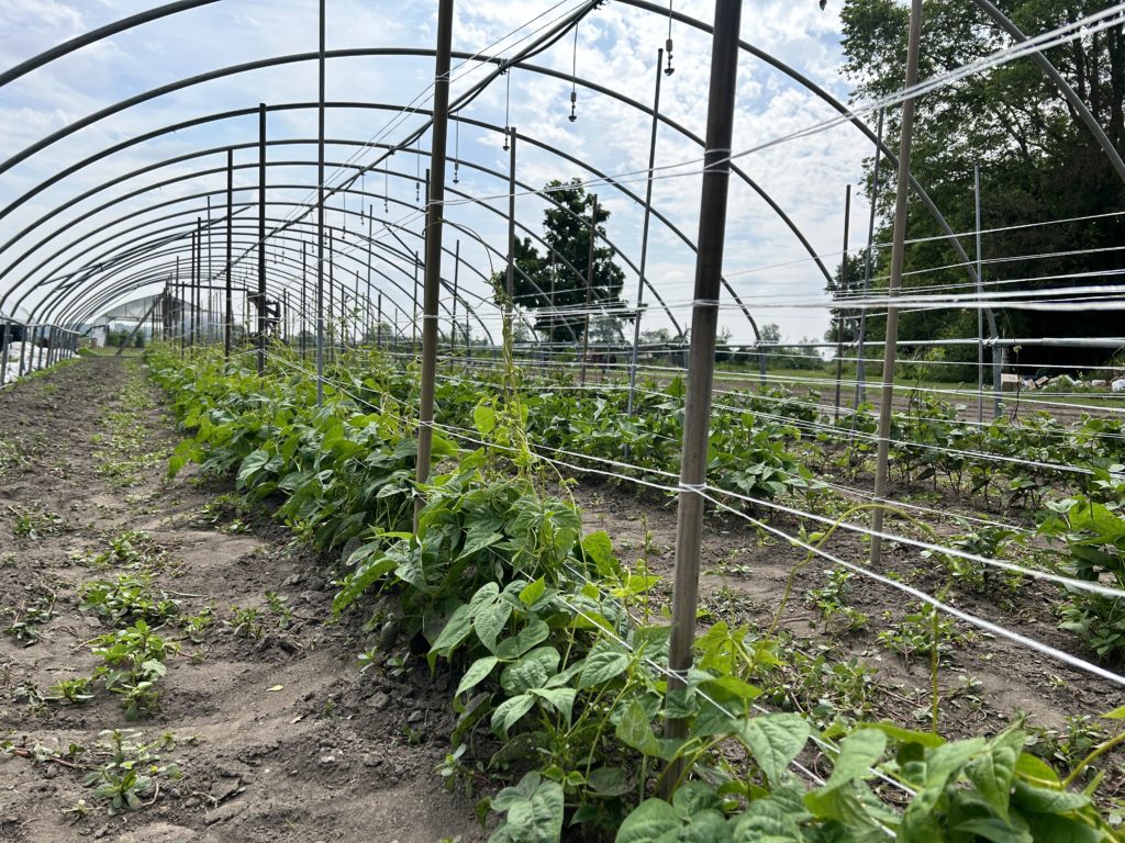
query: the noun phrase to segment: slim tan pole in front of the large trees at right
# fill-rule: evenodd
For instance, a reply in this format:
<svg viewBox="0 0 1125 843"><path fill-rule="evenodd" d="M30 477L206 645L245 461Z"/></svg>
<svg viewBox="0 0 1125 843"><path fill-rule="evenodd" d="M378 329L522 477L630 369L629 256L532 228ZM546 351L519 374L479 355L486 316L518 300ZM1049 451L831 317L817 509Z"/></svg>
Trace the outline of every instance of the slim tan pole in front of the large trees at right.
<svg viewBox="0 0 1125 843"><path fill-rule="evenodd" d="M921 0L911 0L910 35L907 48L907 83L909 90L918 82L918 51L921 40ZM891 280L886 290L890 299L898 298L902 284L902 257L907 232L907 191L910 189L910 152L914 140L915 98L902 103L902 139L899 144L899 182L894 200L894 233L891 238ZM893 303L886 309L886 336L883 346L883 386L879 399L879 451L875 457L875 502L886 499L886 460L891 447L891 410L894 401L894 359L898 351L899 309ZM874 533L883 529L883 509L872 511ZM871 537L871 564L883 559L883 543L879 535Z"/></svg>

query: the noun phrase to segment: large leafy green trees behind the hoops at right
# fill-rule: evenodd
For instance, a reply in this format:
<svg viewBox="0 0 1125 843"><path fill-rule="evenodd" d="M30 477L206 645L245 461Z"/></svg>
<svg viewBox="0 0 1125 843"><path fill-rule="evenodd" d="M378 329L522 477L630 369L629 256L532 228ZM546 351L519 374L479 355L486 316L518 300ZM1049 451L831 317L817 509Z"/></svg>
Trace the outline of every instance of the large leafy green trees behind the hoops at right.
<svg viewBox="0 0 1125 843"><path fill-rule="evenodd" d="M1054 29L1105 8L1101 0L997 0L1028 35ZM908 11L894 0L847 0L843 11L846 72L857 83L853 100L901 89ZM974 3L929 0L922 22L920 78L984 57L1011 39ZM1109 135L1125 151L1125 35L1112 27L1047 53ZM1070 103L1030 58L1020 58L947 84L918 100L911 170L955 232L972 232L973 165L981 167L982 251L987 289L1034 289L1113 283L1125 269L1125 185ZM897 148L900 110L888 111L888 145ZM884 169L884 173L886 170ZM880 208L889 236L893 176L884 178ZM1113 216L1106 216L1113 214ZM1058 220L1082 221L1054 224ZM972 290L961 259L929 214L911 197L903 285ZM988 233L991 232L991 233ZM930 239L926 239L930 238ZM973 238L961 238L973 255ZM1101 251L1099 251L1101 250ZM1044 257L1043 255L1047 255ZM998 259L990 262L990 259ZM938 269L945 268L945 269ZM882 274L882 273L879 273ZM1020 279L1032 279L1009 283ZM997 288L990 284L999 283ZM879 284L873 284L878 287ZM883 282L885 287L885 282ZM1114 312L998 311L1008 336L1115 336ZM874 339L883 320L868 319ZM901 312L904 339L972 337L971 309ZM950 360L971 362L975 348L951 346ZM1097 353L1025 347L1024 363L1094 364ZM964 377L955 368L950 374Z"/></svg>

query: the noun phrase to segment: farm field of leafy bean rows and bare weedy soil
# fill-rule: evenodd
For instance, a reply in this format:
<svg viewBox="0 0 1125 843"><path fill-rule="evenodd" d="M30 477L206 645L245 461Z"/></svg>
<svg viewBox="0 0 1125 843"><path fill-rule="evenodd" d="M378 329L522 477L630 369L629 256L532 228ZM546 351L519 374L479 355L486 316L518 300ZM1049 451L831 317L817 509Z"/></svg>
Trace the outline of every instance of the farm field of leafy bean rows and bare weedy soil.
<svg viewBox="0 0 1125 843"><path fill-rule="evenodd" d="M1018 573L1069 573L1044 561L1059 555L1040 552L1048 536L978 531L972 545L957 532L999 517L1034 529L1029 502L1043 505L1064 484L1029 500L1006 497L998 481L986 500L981 489L943 488L908 471L894 497L938 505L946 517L928 517L922 533L911 533L920 522L909 518L889 531L953 549L991 541L987 555L1010 566L935 560L899 542L884 554L883 580L871 582L785 538L846 561L865 555L860 536L825 535L768 511L803 501L831 514L829 523L862 517L827 484L840 466L862 475L862 460L834 463L821 441L821 463L809 471L801 460L814 452L798 435L812 423L804 402L786 405L792 418L780 425L754 418L749 407L762 397L739 397L742 426L724 426L720 415L712 439L739 453L739 465L770 470L716 474L717 489L740 478L747 495L708 517L700 667L690 685L698 696L674 703L659 669L672 499L656 483L638 491L628 478L606 477L596 433L603 422L634 424L634 460L645 443L634 464L658 475L654 443L674 438L675 388L650 390L658 404L627 423L605 413L620 400L613 392L559 399L561 375L546 389L516 388L503 371L450 369L439 389L439 473L412 538L403 532L412 439L398 409L410 400L410 377L374 353L352 356L330 374L331 410L316 416L310 384L287 373L299 361L284 348L271 359L277 368L260 381L238 368L223 374L214 353L180 362L156 350L147 364L168 390L161 395L138 361L91 357L0 395L28 413L69 418L69 438L87 443L60 454L18 414L4 430L14 550L0 574L20 599L8 607L3 644L6 713L18 726L2 769L17 771L11 791L21 796L4 818L16 840L83 828L124 840L305 840L309 828L348 835L389 823L415 830L416 840L469 841L485 834L478 812L503 840L523 822L521 800L546 806L550 825L570 815L584 839L621 840L644 821L644 805L633 806L638 792L658 787L660 761L688 763L701 777L690 790L701 799L720 786L730 798L746 782L773 786L767 800L775 800L796 787L777 767L788 758L812 777L803 801L816 808L814 795L829 788L816 781L830 780L857 745L864 767L838 798L888 824L901 822L891 806L910 803L903 786L922 782L884 753L894 743L936 752L937 734L965 747L964 772L951 776L969 777L951 779L942 798L974 794L974 759L1018 742L1025 754L1014 774L1035 771L1035 783L1020 787L1051 789L1048 763L1062 776L1077 769L1073 781L1095 788L1090 807L1061 803L1052 822L1112 822L1125 777L1114 722L1100 715L1125 703L1118 686L898 589L937 593L972 618L1112 671L1120 659L1113 641L1099 653L1100 640L1059 628L1089 606ZM494 388L482 391L483 378ZM115 397L108 410L69 409L91 383ZM178 442L184 433L158 409L165 402L194 438ZM934 407L927 414L927 424L940 416ZM521 417L543 444L528 444ZM917 420L903 414L901 423ZM568 428L586 444L582 453ZM178 473L164 481L168 465ZM145 636L160 643L135 643ZM114 647L130 646L151 658L111 661ZM652 729L669 705L708 740L658 737ZM757 724L770 724L765 736ZM116 737L106 734L112 729ZM112 750L115 740L129 749ZM115 763L130 752L148 778L125 786ZM867 765L882 778L870 779ZM105 781L83 787L91 773ZM117 790L99 790L107 782ZM125 801L109 817L115 797ZM1018 798L1009 812L1020 810ZM857 822L825 812L798 821L808 831L794 825L794 833Z"/></svg>

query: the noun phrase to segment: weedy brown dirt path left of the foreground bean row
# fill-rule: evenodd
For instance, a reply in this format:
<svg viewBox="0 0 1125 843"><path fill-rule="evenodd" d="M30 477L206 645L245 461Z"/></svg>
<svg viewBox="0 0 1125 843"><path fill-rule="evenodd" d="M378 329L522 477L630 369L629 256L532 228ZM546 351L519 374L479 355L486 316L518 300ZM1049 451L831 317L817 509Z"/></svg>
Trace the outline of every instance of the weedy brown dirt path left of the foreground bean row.
<svg viewBox="0 0 1125 843"><path fill-rule="evenodd" d="M216 505L223 490L190 472L163 479L177 435L160 401L136 360L107 357L0 391L0 629L28 607L53 601L55 613L35 643L0 636L0 840L482 840L471 803L434 771L448 682L360 673L367 644L330 622L323 562L260 515ZM99 563L125 531L146 534L138 556ZM81 586L122 573L151 577L180 604L161 629L182 651L158 683L159 707L129 722L100 683L80 705L43 701L93 670L89 642L114 629L79 608ZM192 641L182 618L208 607L214 623ZM256 614L240 626L235 608ZM109 816L83 786L105 762L107 729L166 737L153 751L182 776ZM87 752L66 755L71 744Z"/></svg>

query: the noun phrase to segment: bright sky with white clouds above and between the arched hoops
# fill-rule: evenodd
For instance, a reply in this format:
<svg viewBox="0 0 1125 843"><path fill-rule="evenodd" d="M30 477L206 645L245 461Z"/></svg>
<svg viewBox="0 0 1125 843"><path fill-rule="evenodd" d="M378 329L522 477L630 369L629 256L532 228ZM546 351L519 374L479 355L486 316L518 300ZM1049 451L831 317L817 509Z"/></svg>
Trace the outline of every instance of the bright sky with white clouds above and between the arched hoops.
<svg viewBox="0 0 1125 843"><path fill-rule="evenodd" d="M510 56L579 4L577 0L458 2L453 49L470 56ZM6 33L0 40L0 67L148 6L135 0L4 0L0 4L0 31ZM741 37L846 101L849 83L842 74L839 6L838 0L829 0L821 10L817 0L750 0L742 7ZM705 22L711 22L714 13L713 3L700 0L676 2L675 9ZM330 140L397 145L422 125L423 118L410 109L430 106L433 58L408 53L432 49L435 30L436 3L432 0L328 0L327 48L379 51L328 61L327 101L379 106L328 109L325 135ZM649 115L630 100L645 108L651 106L657 49L667 37L666 13L623 2L603 3L582 21L577 37L568 34L531 60L560 78L530 67L514 69L461 111L468 120L518 128L516 178L532 189L551 179L593 180L588 189L611 211L608 235L623 254L618 262L626 270L623 294L630 302L638 293L634 266L640 260L644 215L640 203L622 188L644 196L651 127ZM675 126L659 127L658 178L652 184L654 208L667 224L652 220L646 275L672 316L686 325L694 254L670 226L691 242L698 235L702 149L685 133L703 135L711 39L680 22L673 24L672 37L674 73L662 74L660 114ZM117 34L0 88L0 157L8 160L76 120L152 89L228 65L313 52L316 46L317 4L313 0L220 0ZM486 72L480 62L454 60L453 96L482 81ZM606 91L579 82L574 121L568 119L572 72ZM208 200L213 219L225 214L227 145L245 145L234 154L235 202L256 200L256 114L127 144L130 139L205 115L254 109L260 102L306 106L270 112L267 135L271 140L308 142L316 137L316 110L307 107L316 101L315 62L294 62L177 88L68 134L0 174L0 206L4 208L0 218L0 294L14 290L0 303L0 314L18 308L22 316L60 283L92 284L86 288L93 302L90 308L99 311L156 292L170 272L156 268L170 268L174 259L166 255L171 252L164 250L161 257L160 250L138 256L123 250L136 237L152 243L179 234L172 245L180 247L186 260L183 232L192 218L206 220ZM848 184L854 193L850 245L853 250L864 245L868 208L858 185L863 160L872 153L871 143L850 126L776 142L834 115L827 103L780 71L749 54L741 55L734 147L747 154L737 164L792 218L829 270L839 262ZM421 250L414 178L423 175L428 166L429 143L426 135L418 143L421 155L402 149L389 158L386 175L380 164L378 172L357 182L368 196L352 192L334 200L342 207L328 212L330 224L342 227L346 219L350 230L336 244L334 271L342 278L357 273L367 278L367 255L354 239L357 229L367 225L357 216L364 206L374 217L370 225L377 242L399 252ZM45 180L117 144L126 145L27 198L28 191ZM204 151L213 152L197 154ZM486 279L506 253L508 153L503 148L502 132L468 123L456 130L451 127L449 152L465 158L467 165L459 167L457 184L451 183L452 164L447 169L448 187L460 193L447 196L454 202L448 207L447 218L460 228L447 227L446 245L459 248L466 259L459 273L460 290L479 302L483 320L495 328ZM378 155L379 149L372 146L330 143L327 184L339 184L342 173L354 172L336 164L370 164ZM182 160L166 163L177 156ZM307 211L316 184L315 156L315 144L309 143L269 147L271 216L289 219ZM145 172L128 175L144 167ZM618 184L597 179L595 172L616 176ZM117 183L110 184L115 180ZM208 196L200 196L204 193ZM14 202L20 203L12 208ZM350 214L343 214L343 207ZM541 198L518 191L520 225L541 232L543 208ZM249 244L255 216L256 210L249 206L236 211L238 242ZM790 339L822 335L827 310L800 305L810 300L822 303L824 275L793 232L738 178L731 182L726 234L724 275L757 323L780 325L782 335ZM299 272L299 248L295 245L288 259L282 255L276 262L277 250L268 246L270 272L296 277L291 273ZM219 268L225 254L220 227L208 237L206 251L212 269ZM244 251L236 247L236 256ZM385 297L386 312L395 307L405 312L411 308L413 268L381 247L372 260L372 284ZM116 263L107 268L110 262ZM83 268L89 271L75 275ZM146 268L151 270L147 273ZM238 268L240 273L252 272L252 256L243 256ZM125 277L122 273L145 283L117 297L97 292L119 281ZM451 274L447 262L443 275L448 280ZM645 299L651 302L652 294L646 291ZM726 291L722 302L721 327L729 330L734 343L752 342L747 319ZM670 327L672 320L651 308L642 326Z"/></svg>

